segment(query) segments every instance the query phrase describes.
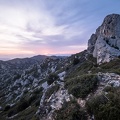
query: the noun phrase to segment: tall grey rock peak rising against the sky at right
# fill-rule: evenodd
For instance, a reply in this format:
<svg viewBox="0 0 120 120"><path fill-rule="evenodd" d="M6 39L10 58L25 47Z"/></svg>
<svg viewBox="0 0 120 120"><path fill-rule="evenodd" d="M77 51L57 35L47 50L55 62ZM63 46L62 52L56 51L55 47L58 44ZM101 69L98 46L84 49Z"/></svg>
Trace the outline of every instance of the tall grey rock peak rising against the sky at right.
<svg viewBox="0 0 120 120"><path fill-rule="evenodd" d="M105 17L102 25L88 41L88 53L101 64L120 56L120 15Z"/></svg>

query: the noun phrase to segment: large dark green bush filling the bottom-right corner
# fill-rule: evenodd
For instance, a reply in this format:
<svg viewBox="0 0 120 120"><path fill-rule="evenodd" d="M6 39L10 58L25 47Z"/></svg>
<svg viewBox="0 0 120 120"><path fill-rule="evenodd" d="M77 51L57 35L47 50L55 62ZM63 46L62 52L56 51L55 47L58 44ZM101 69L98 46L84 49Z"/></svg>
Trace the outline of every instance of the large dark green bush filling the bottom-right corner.
<svg viewBox="0 0 120 120"><path fill-rule="evenodd" d="M95 120L120 120L120 91L99 95L86 102L86 108Z"/></svg>

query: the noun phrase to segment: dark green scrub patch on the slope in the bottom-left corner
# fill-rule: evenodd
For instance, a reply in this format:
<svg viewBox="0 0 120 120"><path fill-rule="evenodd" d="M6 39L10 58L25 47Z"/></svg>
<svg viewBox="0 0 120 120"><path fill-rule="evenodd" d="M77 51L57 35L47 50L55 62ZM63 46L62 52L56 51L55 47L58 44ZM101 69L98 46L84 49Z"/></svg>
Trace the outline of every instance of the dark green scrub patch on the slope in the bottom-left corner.
<svg viewBox="0 0 120 120"><path fill-rule="evenodd" d="M11 117L14 115L17 115L16 117L14 117L15 120L31 119L31 117L34 116L39 107L40 99L42 97L42 91L43 88L41 87L34 90L32 93L27 93L23 95L20 101L18 101L17 104L15 104L14 106L5 106L4 112L1 113L2 117L0 117L0 119L5 120L6 117ZM34 116L34 119L35 118L36 117ZM37 120L37 118L35 120Z"/></svg>

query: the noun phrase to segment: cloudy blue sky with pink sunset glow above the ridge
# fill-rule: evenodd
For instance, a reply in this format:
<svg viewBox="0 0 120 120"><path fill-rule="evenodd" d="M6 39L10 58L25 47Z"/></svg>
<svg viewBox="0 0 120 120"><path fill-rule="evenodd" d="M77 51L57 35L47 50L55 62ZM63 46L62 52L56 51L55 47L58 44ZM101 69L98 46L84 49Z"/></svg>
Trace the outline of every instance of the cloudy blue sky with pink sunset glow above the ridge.
<svg viewBox="0 0 120 120"><path fill-rule="evenodd" d="M120 0L0 0L0 59L81 52L119 6Z"/></svg>

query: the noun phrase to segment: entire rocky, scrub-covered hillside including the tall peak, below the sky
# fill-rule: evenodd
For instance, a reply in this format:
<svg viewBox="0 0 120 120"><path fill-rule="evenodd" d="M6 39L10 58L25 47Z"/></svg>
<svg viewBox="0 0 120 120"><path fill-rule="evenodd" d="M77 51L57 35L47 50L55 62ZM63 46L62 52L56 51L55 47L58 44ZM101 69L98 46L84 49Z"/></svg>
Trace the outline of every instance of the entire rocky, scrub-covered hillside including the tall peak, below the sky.
<svg viewBox="0 0 120 120"><path fill-rule="evenodd" d="M70 57L0 61L0 120L120 120L120 15Z"/></svg>

